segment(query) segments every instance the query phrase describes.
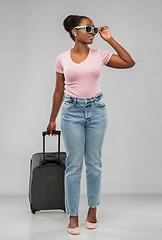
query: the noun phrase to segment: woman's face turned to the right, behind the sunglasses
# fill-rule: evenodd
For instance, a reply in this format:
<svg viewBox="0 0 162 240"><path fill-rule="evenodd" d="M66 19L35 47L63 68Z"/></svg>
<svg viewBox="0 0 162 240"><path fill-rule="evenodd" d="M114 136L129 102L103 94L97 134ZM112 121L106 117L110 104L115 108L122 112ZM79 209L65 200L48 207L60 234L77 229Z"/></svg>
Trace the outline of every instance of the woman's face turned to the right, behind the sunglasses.
<svg viewBox="0 0 162 240"><path fill-rule="evenodd" d="M78 26L86 26L86 25L95 27L93 21L89 18L83 18L81 23ZM93 43L93 39L95 37L95 33L93 32L93 30L90 33L87 33L85 31L85 28L73 29L72 33L74 36L76 35L75 41L80 41L85 44Z"/></svg>

